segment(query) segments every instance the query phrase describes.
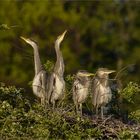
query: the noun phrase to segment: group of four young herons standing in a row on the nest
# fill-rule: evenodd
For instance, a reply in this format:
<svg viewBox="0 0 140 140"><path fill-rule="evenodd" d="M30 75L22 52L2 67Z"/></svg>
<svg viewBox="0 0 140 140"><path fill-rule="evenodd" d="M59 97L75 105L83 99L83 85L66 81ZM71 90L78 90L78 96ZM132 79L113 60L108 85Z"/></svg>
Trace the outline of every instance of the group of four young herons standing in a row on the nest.
<svg viewBox="0 0 140 140"><path fill-rule="evenodd" d="M51 73L48 73L41 64L39 56L38 44L21 36L21 39L28 43L34 52L35 76L32 82L33 93L41 99L43 106L52 104L55 109L57 100L62 100L65 93L64 80L64 60L60 50L60 44L64 39L66 31L57 37L55 41L56 63ZM79 70L76 73L73 86L73 102L75 104L76 113L82 115L82 103L86 101L91 87L92 104L96 109L101 109L101 117L103 118L104 106L110 102L112 98L111 89L109 86L109 74L115 72L107 68L99 68L95 74L85 70ZM93 78L91 78L93 76Z"/></svg>

